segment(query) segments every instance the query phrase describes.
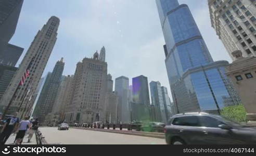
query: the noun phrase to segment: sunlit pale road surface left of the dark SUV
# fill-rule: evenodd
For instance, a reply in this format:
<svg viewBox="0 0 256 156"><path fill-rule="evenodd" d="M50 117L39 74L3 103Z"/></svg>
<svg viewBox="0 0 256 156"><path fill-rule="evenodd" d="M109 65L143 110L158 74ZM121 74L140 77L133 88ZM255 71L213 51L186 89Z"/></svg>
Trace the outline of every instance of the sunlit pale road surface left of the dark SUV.
<svg viewBox="0 0 256 156"><path fill-rule="evenodd" d="M57 127L41 127L40 131L48 144L73 145L163 145L164 139L117 133L87 131L70 128L58 131Z"/></svg>

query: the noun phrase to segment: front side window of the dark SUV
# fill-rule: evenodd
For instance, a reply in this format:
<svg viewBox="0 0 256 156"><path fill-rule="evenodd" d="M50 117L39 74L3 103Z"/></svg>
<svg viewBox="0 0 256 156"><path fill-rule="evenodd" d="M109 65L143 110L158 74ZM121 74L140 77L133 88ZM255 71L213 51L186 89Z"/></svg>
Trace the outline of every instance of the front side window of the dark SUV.
<svg viewBox="0 0 256 156"><path fill-rule="evenodd" d="M211 118L210 116L199 116L199 120L202 127L219 128L219 125L224 124L223 122Z"/></svg>

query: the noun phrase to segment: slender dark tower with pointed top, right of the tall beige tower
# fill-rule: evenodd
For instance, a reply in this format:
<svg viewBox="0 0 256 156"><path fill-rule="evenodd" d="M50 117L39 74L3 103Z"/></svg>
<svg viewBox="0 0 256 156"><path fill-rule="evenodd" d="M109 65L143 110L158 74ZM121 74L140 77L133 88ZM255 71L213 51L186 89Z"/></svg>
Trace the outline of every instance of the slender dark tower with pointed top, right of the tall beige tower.
<svg viewBox="0 0 256 156"><path fill-rule="evenodd" d="M44 89L42 90L44 92L41 92L42 97L39 97L37 101L34 116L39 118L42 123L44 122L45 116L53 110L64 65L63 58L56 62L53 72L50 74L47 83L45 82L44 84Z"/></svg>

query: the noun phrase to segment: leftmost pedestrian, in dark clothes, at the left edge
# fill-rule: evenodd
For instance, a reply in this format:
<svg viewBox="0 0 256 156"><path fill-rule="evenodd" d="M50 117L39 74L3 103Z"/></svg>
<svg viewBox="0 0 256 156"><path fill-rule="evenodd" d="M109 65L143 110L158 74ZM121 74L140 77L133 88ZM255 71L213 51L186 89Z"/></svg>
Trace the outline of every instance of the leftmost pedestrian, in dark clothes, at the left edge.
<svg viewBox="0 0 256 156"><path fill-rule="evenodd" d="M4 145L5 142L8 140L12 132L17 130L19 125L19 118L17 117L18 112L14 113L14 116L8 118L2 128L2 132L0 135L0 142L1 145Z"/></svg>

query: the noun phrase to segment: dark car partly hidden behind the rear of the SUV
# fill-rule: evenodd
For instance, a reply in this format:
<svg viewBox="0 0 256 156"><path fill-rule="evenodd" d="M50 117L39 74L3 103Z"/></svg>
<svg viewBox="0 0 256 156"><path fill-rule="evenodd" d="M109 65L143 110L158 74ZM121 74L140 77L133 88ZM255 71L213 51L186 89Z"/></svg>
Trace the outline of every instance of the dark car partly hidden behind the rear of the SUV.
<svg viewBox="0 0 256 156"><path fill-rule="evenodd" d="M162 132L163 133L164 126L165 124L161 122L150 122L150 123L143 124L141 129L142 131L145 131L145 132Z"/></svg>

